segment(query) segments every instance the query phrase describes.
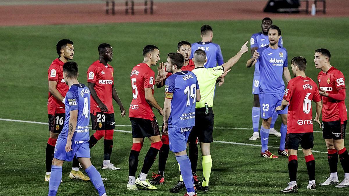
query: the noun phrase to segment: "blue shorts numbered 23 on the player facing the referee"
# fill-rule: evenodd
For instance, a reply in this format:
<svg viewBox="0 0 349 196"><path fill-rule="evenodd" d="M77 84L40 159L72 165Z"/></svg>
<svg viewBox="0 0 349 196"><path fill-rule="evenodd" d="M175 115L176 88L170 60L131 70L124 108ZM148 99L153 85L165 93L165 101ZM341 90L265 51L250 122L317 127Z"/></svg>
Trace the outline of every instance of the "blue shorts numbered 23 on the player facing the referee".
<svg viewBox="0 0 349 196"><path fill-rule="evenodd" d="M263 119L272 117L277 106L281 106L284 93L276 95L259 94L259 103L261 107L261 113ZM288 106L284 110L277 111L277 114L287 114Z"/></svg>

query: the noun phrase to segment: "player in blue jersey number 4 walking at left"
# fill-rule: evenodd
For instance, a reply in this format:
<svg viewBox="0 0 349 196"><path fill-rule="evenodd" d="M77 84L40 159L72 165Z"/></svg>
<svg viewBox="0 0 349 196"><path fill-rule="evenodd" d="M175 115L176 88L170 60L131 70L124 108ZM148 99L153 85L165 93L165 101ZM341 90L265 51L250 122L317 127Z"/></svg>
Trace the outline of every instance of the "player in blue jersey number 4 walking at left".
<svg viewBox="0 0 349 196"><path fill-rule="evenodd" d="M52 161L49 196L57 194L62 179L62 165L64 161L79 160L82 168L90 177L99 196L106 196L101 174L91 164L89 148L90 123L90 91L87 86L77 81L78 66L69 61L63 65L63 77L69 90L65 97L66 118L62 132L54 147Z"/></svg>

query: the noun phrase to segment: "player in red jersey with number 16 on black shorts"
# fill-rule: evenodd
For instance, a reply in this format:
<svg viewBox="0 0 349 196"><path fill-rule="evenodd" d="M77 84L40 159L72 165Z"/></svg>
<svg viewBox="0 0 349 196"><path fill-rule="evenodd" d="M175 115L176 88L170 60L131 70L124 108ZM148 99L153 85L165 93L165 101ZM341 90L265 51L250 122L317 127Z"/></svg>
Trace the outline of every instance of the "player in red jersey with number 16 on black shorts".
<svg viewBox="0 0 349 196"><path fill-rule="evenodd" d="M58 135L61 133L65 121L64 98L69 86L63 78L63 64L73 60L74 46L69 39L61 39L56 45L57 59L52 61L47 74L49 76L49 100L47 101L47 113L49 114L50 137L46 146L46 175L45 181L50 181L51 165L54 154L54 146ZM79 161L74 157L70 179L90 180L79 170Z"/></svg>

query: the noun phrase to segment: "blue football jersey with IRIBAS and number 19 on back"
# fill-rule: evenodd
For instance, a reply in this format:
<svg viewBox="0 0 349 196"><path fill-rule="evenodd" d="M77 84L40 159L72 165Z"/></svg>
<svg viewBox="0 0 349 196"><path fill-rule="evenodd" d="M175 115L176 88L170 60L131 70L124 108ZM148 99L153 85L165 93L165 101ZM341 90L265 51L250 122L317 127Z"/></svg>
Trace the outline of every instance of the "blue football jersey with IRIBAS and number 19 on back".
<svg viewBox="0 0 349 196"><path fill-rule="evenodd" d="M191 71L177 72L166 79L165 92L173 93L169 127L185 128L195 125L196 89L199 89L198 79Z"/></svg>

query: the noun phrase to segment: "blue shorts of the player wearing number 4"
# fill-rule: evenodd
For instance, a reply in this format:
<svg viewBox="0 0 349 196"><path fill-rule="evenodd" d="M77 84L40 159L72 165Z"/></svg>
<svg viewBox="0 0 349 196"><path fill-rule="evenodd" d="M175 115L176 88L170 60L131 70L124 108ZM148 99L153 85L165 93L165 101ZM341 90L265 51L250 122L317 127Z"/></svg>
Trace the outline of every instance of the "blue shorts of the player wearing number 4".
<svg viewBox="0 0 349 196"><path fill-rule="evenodd" d="M88 140L85 141L72 141L72 149L69 152L65 151L67 139L58 137L56 145L54 146L54 158L65 161L72 161L74 156L76 158L84 157L91 158L90 156L90 144Z"/></svg>

